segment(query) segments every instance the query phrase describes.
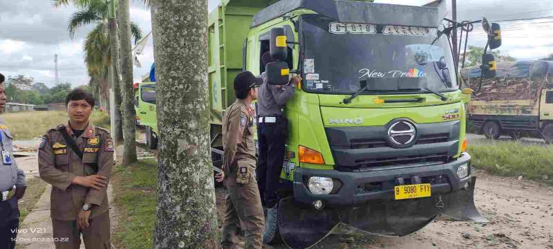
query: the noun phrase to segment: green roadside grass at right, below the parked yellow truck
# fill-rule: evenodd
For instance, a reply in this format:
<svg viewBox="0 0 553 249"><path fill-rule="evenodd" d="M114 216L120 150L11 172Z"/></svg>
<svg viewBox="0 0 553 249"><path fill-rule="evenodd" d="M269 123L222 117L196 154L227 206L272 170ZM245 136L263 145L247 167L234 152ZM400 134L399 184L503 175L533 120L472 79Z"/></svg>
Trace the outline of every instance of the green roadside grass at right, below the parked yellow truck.
<svg viewBox="0 0 553 249"><path fill-rule="evenodd" d="M469 145L472 165L500 176L524 176L553 183L552 146L497 142L494 145Z"/></svg>

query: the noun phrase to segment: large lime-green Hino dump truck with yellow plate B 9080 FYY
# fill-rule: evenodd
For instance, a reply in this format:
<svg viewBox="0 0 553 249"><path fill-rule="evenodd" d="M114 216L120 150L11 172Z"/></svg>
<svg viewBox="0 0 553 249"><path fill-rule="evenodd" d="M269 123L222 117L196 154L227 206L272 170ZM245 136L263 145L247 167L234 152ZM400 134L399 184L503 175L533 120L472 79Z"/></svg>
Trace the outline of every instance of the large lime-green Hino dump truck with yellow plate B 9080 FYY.
<svg viewBox="0 0 553 249"><path fill-rule="evenodd" d="M308 248L341 223L403 236L440 214L486 221L474 206L476 177L465 151L472 91L460 89L453 28L442 26L472 23L447 21L438 3L223 0L210 12L214 167L221 167L221 120L235 100L235 75L267 71L271 84L286 82L288 73L303 77L284 107L281 201L278 222L267 219L265 243L280 234L291 248ZM484 23L497 47L498 26ZM266 51L278 62L263 68ZM489 66L482 73L492 72L493 56L483 61ZM136 95L151 147L153 87L142 82Z"/></svg>

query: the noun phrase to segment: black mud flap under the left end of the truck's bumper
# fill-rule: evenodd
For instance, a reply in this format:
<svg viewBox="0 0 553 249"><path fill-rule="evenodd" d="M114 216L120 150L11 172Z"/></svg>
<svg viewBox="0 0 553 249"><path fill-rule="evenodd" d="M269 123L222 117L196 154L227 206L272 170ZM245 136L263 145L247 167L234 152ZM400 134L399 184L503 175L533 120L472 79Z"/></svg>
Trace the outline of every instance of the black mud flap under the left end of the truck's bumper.
<svg viewBox="0 0 553 249"><path fill-rule="evenodd" d="M293 197L279 203L279 231L286 246L293 249L310 248L338 225L335 211L303 208Z"/></svg>

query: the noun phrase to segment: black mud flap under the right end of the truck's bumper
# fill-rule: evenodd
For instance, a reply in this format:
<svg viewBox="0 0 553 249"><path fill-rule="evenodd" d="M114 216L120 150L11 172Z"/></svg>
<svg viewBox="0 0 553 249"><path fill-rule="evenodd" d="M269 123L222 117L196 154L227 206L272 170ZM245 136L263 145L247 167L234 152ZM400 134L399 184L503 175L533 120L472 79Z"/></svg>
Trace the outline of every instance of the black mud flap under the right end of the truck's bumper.
<svg viewBox="0 0 553 249"><path fill-rule="evenodd" d="M459 190L447 194L443 200L444 208L441 213L456 221L487 222L488 220L476 210L476 205L474 205L475 185L476 176L472 176L469 190Z"/></svg>

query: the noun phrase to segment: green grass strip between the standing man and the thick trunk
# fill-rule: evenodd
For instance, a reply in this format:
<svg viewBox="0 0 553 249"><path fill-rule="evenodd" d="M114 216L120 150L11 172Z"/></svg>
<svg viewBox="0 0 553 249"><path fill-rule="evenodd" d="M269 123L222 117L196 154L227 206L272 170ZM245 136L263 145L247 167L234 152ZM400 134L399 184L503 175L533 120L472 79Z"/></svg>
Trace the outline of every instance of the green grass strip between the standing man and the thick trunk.
<svg viewBox="0 0 553 249"><path fill-rule="evenodd" d="M118 165L113 170L113 205L118 210L118 223L111 241L116 248L153 248L157 175L155 160Z"/></svg>

